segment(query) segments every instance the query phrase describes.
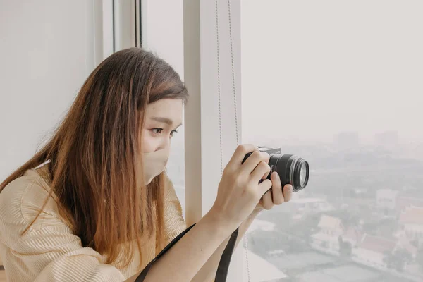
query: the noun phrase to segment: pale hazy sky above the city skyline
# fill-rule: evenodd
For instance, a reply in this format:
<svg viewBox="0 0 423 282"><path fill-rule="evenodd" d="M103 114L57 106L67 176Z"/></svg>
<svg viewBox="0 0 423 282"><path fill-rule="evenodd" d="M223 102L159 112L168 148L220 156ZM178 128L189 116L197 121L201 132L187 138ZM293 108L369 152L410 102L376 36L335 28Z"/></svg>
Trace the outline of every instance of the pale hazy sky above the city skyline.
<svg viewBox="0 0 423 282"><path fill-rule="evenodd" d="M423 1L241 3L245 139L423 140Z"/></svg>

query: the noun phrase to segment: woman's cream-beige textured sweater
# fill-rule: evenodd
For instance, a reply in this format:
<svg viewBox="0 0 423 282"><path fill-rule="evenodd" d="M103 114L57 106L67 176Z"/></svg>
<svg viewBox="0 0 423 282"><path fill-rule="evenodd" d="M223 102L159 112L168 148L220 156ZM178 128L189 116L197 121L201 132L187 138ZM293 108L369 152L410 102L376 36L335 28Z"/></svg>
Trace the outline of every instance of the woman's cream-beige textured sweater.
<svg viewBox="0 0 423 282"><path fill-rule="evenodd" d="M169 243L185 230L180 202L169 180L165 192L165 234ZM47 197L47 183L35 170L14 180L0 193L0 256L8 281L125 281L140 271L140 254L125 268L104 264L105 258L89 247L82 247L59 216L56 197L25 235ZM142 249L143 266L160 250L155 235Z"/></svg>

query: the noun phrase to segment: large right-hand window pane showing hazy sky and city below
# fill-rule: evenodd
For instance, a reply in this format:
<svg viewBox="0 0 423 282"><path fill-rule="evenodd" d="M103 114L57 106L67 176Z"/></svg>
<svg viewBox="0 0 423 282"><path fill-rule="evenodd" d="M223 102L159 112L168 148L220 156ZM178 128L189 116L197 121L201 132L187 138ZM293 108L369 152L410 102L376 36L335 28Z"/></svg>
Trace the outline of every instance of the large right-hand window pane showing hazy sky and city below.
<svg viewBox="0 0 423 282"><path fill-rule="evenodd" d="M251 274L263 271L259 257L286 281L423 279L421 259L396 274L368 263L398 242L423 255L400 228L423 228L421 11L421 1L241 2L243 142L281 147L312 169L305 190L257 217L274 228L248 233ZM376 209L376 195L392 212ZM298 216L306 199L332 209ZM344 244L329 250L338 235L319 227L322 216L324 228L341 221L357 263Z"/></svg>

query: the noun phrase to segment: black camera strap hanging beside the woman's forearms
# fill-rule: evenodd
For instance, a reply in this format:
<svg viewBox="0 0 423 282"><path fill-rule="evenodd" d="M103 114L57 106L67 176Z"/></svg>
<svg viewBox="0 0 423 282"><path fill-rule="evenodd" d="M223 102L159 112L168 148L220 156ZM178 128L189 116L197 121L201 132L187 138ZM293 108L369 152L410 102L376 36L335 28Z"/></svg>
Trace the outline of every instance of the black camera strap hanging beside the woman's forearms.
<svg viewBox="0 0 423 282"><path fill-rule="evenodd" d="M141 271L141 274L135 279L135 282L143 282L145 279L145 276L147 276L147 273L149 269L152 267L152 265L154 264L154 262L156 262L157 259L159 259L162 255L164 255L173 245L175 245L178 242L178 240L180 240L180 238L183 238L183 235L188 233L188 231L190 231L191 228L194 226L195 224L185 229L185 231L180 233L175 239L172 240L171 243L169 243L166 247L164 247L164 249L159 253L159 255L157 255L157 257L155 257L151 262L149 262L147 266L145 266L145 269ZM228 271L229 271L229 264L231 264L232 253L233 253L233 250L235 250L235 244L236 244L237 238L238 238L238 228L232 233L231 238L229 238L228 245L226 245L225 250L223 250L223 254L219 262L219 266L217 267L216 278L214 279L214 282L226 281L226 278L228 276Z"/></svg>

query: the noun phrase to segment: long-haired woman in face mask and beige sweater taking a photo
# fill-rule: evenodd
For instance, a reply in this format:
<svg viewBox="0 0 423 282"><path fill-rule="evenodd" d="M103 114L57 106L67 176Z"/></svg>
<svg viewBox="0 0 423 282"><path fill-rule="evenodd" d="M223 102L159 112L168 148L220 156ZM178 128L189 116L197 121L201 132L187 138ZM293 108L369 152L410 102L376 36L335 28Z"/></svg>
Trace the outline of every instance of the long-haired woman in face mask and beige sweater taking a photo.
<svg viewBox="0 0 423 282"><path fill-rule="evenodd" d="M91 73L47 145L0 185L9 281L133 281L185 230L164 168L187 98L173 68L142 49L118 51ZM275 175L258 184L267 161L238 147L212 209L146 281L212 280L231 233L240 226L241 237L259 210L284 201Z"/></svg>

